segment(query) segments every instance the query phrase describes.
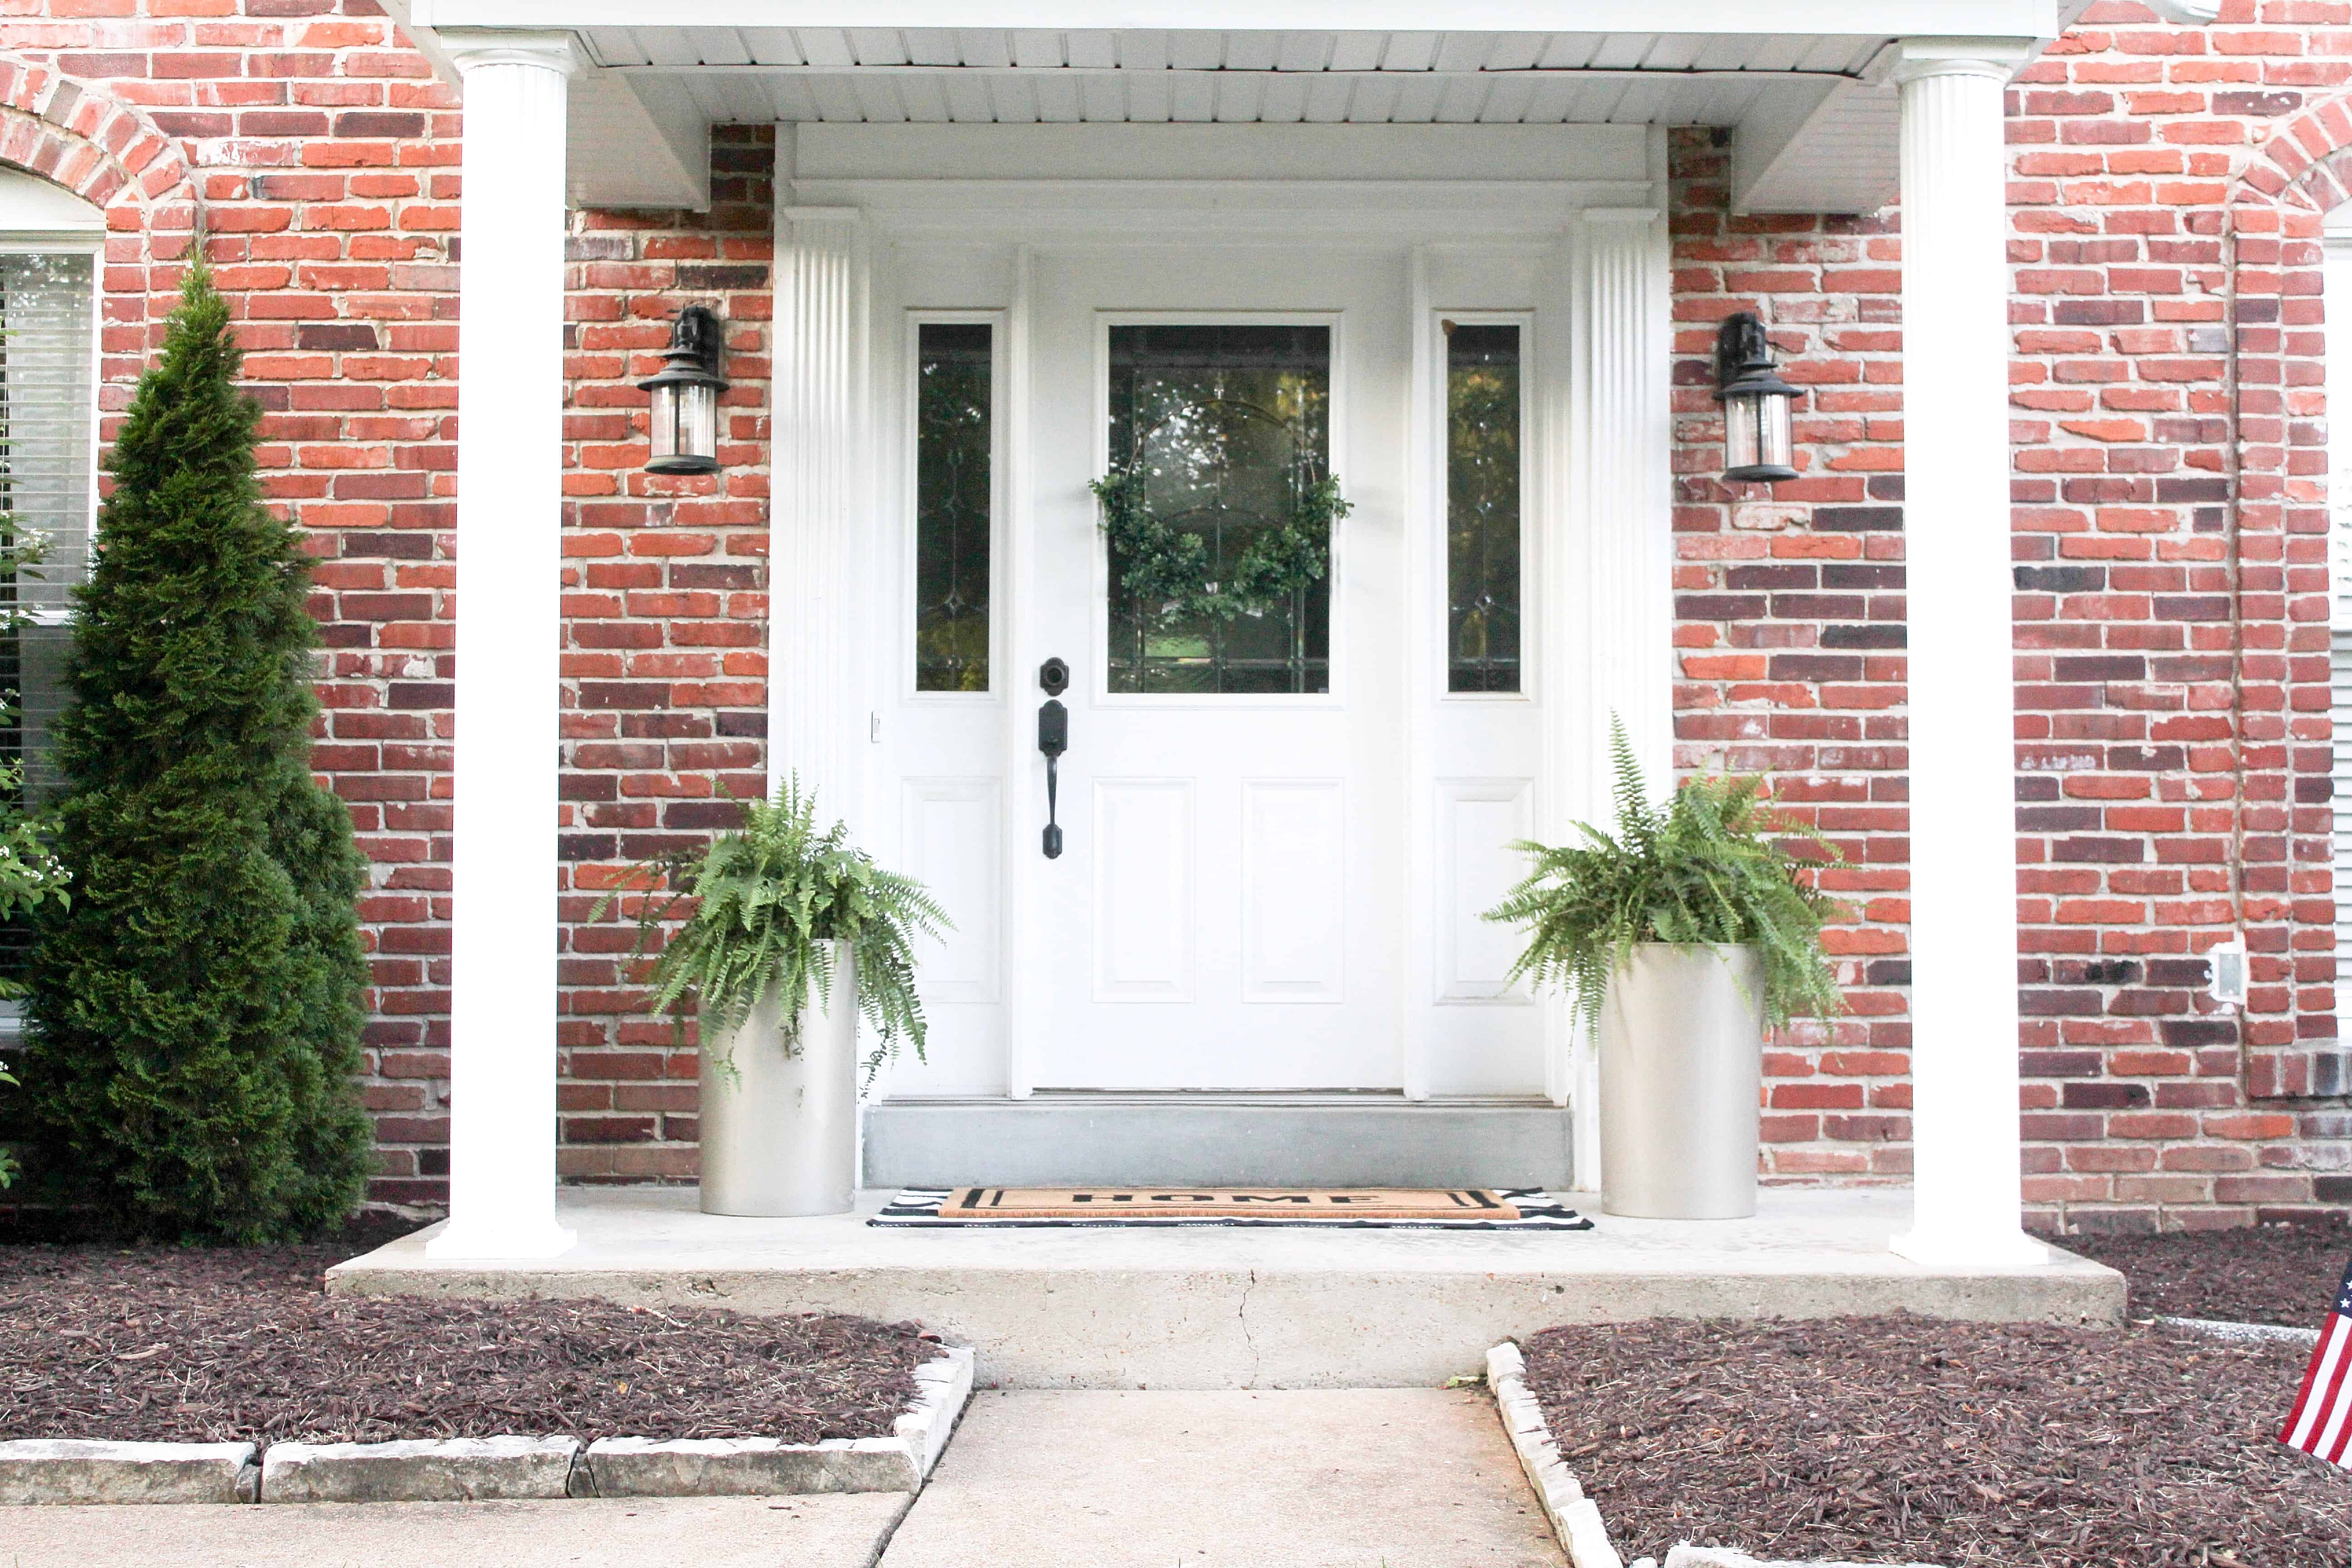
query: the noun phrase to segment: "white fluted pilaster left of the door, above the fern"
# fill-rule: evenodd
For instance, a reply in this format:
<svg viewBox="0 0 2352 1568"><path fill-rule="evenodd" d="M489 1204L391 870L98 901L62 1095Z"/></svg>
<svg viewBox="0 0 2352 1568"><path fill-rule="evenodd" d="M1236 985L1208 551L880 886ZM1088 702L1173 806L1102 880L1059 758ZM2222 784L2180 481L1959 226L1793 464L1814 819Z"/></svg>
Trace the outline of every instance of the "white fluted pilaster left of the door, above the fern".
<svg viewBox="0 0 2352 1568"><path fill-rule="evenodd" d="M776 437L769 512L769 790L800 773L821 820L866 816L875 637L863 463L866 233L854 207L776 216Z"/></svg>

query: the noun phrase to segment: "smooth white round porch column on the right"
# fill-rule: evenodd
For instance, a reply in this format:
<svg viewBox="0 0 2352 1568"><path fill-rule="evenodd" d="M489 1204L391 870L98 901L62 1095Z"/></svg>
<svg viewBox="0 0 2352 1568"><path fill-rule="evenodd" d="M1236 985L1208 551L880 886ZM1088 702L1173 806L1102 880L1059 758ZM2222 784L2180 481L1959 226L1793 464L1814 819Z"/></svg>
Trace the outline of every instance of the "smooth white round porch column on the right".
<svg viewBox="0 0 2352 1568"><path fill-rule="evenodd" d="M1912 1227L1926 1265L2042 1262L2018 1225L2009 158L2016 40L1905 40Z"/></svg>

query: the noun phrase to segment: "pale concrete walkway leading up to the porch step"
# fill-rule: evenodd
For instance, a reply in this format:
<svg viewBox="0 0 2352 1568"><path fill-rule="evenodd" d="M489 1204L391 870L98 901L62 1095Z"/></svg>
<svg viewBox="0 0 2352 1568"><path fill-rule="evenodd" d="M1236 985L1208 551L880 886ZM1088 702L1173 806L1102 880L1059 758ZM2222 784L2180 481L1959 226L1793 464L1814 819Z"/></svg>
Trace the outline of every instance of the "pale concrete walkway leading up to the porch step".
<svg viewBox="0 0 2352 1568"><path fill-rule="evenodd" d="M974 1394L901 1495L0 1509L0 1568L1564 1568L1479 1392Z"/></svg>

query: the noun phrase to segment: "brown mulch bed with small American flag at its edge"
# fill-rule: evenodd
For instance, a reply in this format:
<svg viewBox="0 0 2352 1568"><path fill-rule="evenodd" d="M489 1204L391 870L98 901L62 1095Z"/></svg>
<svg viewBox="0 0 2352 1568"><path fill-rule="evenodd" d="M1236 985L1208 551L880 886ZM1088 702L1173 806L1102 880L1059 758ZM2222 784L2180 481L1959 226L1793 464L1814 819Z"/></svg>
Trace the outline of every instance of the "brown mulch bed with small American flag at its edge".
<svg viewBox="0 0 2352 1568"><path fill-rule="evenodd" d="M1646 1321L1526 1382L1628 1561L2345 1568L2352 1476L2279 1446L2305 1352L2171 1328Z"/></svg>

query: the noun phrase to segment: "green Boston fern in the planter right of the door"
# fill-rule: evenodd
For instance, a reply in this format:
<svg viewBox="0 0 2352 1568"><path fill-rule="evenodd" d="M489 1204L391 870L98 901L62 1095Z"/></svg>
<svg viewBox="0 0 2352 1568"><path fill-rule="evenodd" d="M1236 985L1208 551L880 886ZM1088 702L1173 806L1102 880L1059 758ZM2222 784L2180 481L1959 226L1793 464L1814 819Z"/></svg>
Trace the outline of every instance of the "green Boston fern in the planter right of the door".
<svg viewBox="0 0 2352 1568"><path fill-rule="evenodd" d="M1842 1013L1846 1001L1820 952L1820 922L1837 900L1799 879L1804 863L1780 842L1804 839L1830 863L1842 856L1820 835L1778 823L1762 778L1691 778L1658 809L1623 724L1611 724L1609 752L1616 837L1578 823L1583 844L1517 844L1536 856L1536 870L1486 912L1526 926L1510 978L1573 987L1597 1027L1602 992L1637 943L1736 943L1764 959L1773 1027L1792 1013Z"/></svg>

